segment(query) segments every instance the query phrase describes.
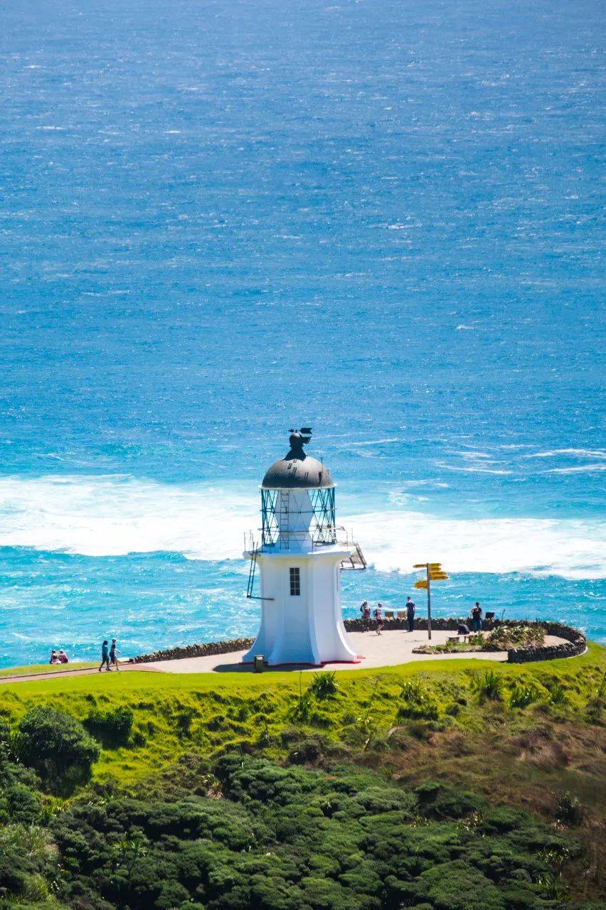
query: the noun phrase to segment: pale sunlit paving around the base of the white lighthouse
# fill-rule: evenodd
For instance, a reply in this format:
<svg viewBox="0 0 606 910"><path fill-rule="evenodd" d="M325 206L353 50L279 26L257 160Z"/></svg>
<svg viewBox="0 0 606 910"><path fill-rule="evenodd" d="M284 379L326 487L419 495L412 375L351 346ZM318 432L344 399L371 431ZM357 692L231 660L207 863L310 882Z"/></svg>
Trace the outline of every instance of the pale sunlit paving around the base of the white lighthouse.
<svg viewBox="0 0 606 910"><path fill-rule="evenodd" d="M431 644L443 644L453 632L432 632ZM506 661L506 651L477 652L459 654L413 654L412 649L420 644L427 644L427 632L349 632L349 641L360 655L359 663L326 663L325 670L366 670L370 667L390 667L398 663L412 661L452 661L457 658L472 658L479 661ZM545 639L550 644L558 644L563 639L548 635ZM210 657L184 657L177 661L157 661L139 664L141 667L167 673L209 673L209 672L252 672L250 664L242 664L246 652L237 651L230 654L213 654ZM363 659L361 655L364 655ZM288 665L266 667L265 672L272 670L317 670L317 667Z"/></svg>

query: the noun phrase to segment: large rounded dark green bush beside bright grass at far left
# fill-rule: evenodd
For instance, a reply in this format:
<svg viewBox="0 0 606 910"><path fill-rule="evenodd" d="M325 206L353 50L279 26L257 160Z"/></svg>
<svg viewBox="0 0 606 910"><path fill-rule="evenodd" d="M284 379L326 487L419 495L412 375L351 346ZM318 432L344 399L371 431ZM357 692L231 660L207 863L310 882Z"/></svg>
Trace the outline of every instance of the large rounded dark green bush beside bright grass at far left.
<svg viewBox="0 0 606 910"><path fill-rule="evenodd" d="M70 790L90 777L99 745L82 723L52 708L33 708L19 723L15 750L51 787Z"/></svg>

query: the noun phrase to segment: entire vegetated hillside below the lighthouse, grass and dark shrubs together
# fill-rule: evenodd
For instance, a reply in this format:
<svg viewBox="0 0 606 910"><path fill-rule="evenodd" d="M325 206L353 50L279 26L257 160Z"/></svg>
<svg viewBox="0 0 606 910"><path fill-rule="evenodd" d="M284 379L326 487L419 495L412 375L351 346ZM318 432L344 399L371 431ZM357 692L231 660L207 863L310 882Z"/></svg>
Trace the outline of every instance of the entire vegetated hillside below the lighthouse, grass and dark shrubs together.
<svg viewBox="0 0 606 910"><path fill-rule="evenodd" d="M606 656L0 690L0 908L597 910Z"/></svg>

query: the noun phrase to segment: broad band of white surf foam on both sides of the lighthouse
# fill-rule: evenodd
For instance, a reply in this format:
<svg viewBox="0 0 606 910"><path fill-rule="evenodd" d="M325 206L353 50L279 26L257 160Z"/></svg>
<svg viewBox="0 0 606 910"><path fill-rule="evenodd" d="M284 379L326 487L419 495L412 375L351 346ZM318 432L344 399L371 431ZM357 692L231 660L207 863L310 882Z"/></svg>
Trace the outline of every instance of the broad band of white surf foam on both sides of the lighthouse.
<svg viewBox="0 0 606 910"><path fill-rule="evenodd" d="M451 572L529 571L606 578L606 522L573 519L445 519L379 510L342 490L338 521L354 531L379 571L441 561ZM366 505L372 502L371 509ZM357 504L358 503L358 504ZM90 556L174 551L192 559L240 559L258 528L254 483L171 485L129 476L0 478L0 545Z"/></svg>

